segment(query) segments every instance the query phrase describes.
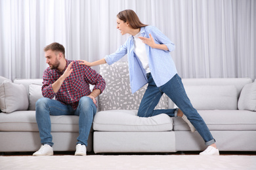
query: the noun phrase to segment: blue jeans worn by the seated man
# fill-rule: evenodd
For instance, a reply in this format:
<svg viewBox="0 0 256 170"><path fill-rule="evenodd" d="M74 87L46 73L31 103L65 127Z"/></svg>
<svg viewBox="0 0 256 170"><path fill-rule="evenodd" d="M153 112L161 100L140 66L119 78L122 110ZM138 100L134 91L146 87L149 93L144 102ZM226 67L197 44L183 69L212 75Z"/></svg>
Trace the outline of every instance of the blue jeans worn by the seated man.
<svg viewBox="0 0 256 170"><path fill-rule="evenodd" d="M37 120L41 144L53 146L50 115L76 115L79 116L79 136L77 137L77 144L80 143L87 146L95 113L96 105L93 103L93 100L87 96L81 97L76 110L72 109L70 105L64 105L60 101L46 97L37 100L35 104L35 118Z"/></svg>

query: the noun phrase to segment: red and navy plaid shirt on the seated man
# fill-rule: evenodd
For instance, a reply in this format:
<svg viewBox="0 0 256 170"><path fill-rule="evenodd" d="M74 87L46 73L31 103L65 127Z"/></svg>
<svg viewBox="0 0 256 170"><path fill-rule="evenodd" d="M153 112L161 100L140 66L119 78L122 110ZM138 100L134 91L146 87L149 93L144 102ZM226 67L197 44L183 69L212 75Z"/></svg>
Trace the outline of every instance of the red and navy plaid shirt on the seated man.
<svg viewBox="0 0 256 170"><path fill-rule="evenodd" d="M64 71L72 62L72 60L67 59L66 61L67 65ZM104 78L96 73L95 70L91 69L91 67L79 65L79 61L74 61L72 69L72 73L64 80L57 93L53 92L52 84L63 75L64 71L60 72L58 69L50 69L49 67L45 69L43 73L42 94L43 97L48 97L50 99L55 97L56 100L61 103L71 105L75 110L77 109L79 99L91 93L89 84L95 85L93 90L99 89L102 93L106 86L106 82Z"/></svg>

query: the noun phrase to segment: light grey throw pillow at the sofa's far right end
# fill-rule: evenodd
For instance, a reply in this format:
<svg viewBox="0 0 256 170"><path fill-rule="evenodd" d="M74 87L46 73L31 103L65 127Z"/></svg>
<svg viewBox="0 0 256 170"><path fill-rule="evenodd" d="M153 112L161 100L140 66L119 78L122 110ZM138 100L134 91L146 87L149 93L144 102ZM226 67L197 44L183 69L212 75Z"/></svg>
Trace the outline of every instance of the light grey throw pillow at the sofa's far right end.
<svg viewBox="0 0 256 170"><path fill-rule="evenodd" d="M256 82L244 86L238 100L238 109L256 111Z"/></svg>

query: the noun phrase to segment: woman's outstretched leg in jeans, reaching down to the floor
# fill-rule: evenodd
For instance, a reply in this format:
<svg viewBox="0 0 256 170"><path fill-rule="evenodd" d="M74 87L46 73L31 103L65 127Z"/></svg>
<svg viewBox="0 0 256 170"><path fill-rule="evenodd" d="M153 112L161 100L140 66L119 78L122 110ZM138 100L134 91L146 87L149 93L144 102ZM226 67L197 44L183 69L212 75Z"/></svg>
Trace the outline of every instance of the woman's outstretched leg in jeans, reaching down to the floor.
<svg viewBox="0 0 256 170"><path fill-rule="evenodd" d="M194 109L190 99L188 99L179 75L173 76L169 82L160 87L160 90L170 97L179 109L182 110L192 125L196 127L198 133L203 137L206 145L215 143L215 139L213 139L213 136L203 121L203 118L198 114L198 111Z"/></svg>

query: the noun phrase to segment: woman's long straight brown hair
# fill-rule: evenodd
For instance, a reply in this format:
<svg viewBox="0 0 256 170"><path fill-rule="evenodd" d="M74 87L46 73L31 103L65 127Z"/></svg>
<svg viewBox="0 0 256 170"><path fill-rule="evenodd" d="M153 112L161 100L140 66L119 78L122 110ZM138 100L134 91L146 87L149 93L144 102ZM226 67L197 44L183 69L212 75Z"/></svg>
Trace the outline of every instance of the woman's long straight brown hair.
<svg viewBox="0 0 256 170"><path fill-rule="evenodd" d="M119 18L119 20L123 20L123 22L128 22L133 29L147 26L146 24L142 24L142 22L140 22L137 14L131 9L122 10L117 14L117 18Z"/></svg>

